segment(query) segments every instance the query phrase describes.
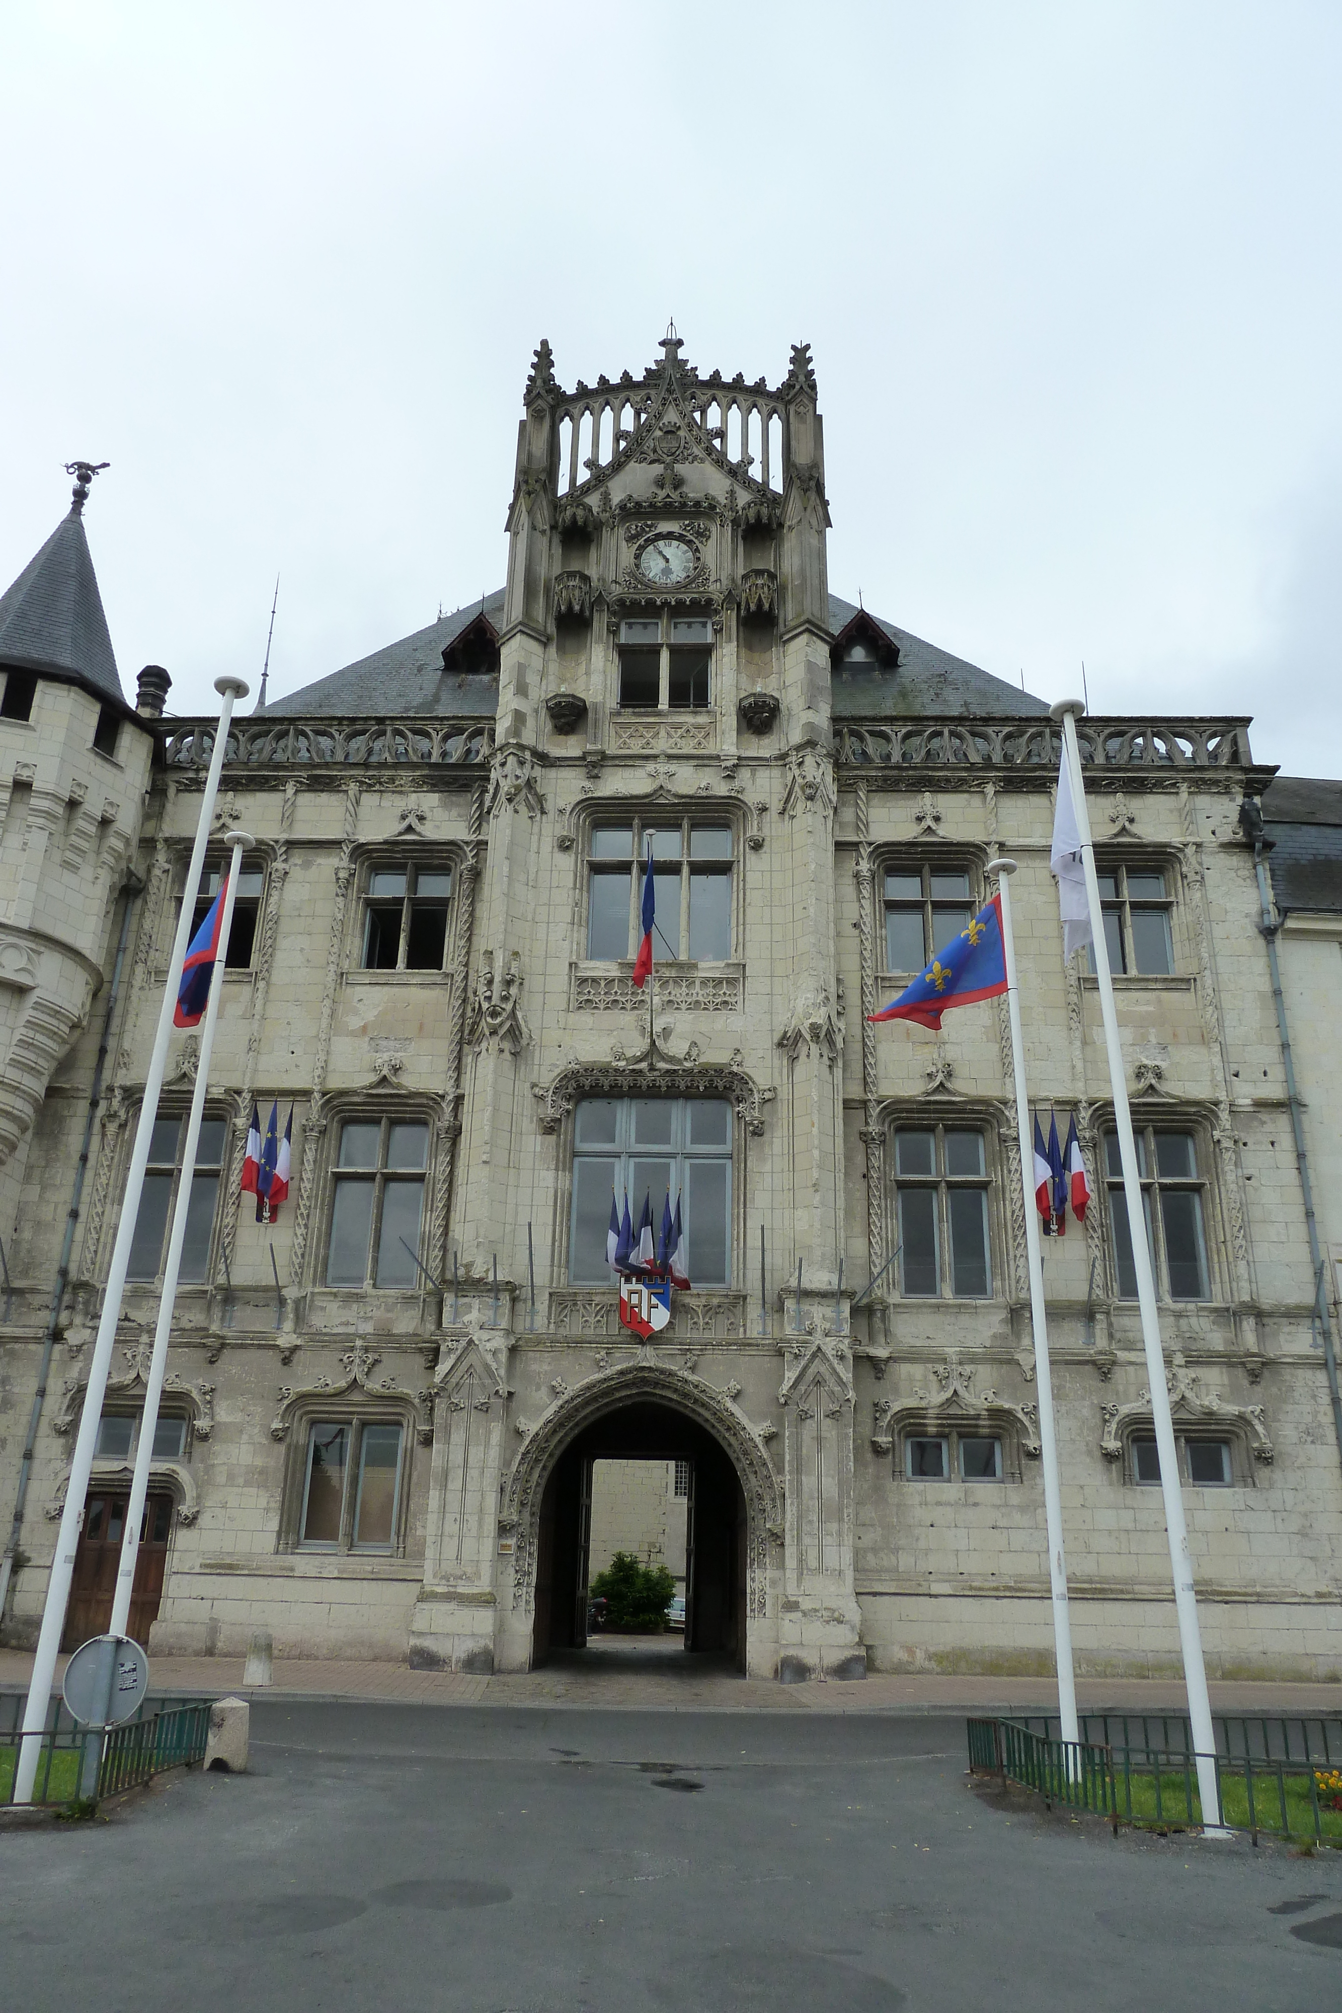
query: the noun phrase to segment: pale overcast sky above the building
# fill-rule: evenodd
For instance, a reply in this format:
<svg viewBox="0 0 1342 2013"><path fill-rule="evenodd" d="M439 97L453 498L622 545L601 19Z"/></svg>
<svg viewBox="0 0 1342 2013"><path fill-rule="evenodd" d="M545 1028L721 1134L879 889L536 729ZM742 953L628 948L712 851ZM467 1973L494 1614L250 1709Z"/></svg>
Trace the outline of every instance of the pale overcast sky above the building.
<svg viewBox="0 0 1342 2013"><path fill-rule="evenodd" d="M521 391L815 350L831 588L1342 775L1342 8L6 10L0 574L290 692L503 582ZM249 705L249 701L247 701Z"/></svg>

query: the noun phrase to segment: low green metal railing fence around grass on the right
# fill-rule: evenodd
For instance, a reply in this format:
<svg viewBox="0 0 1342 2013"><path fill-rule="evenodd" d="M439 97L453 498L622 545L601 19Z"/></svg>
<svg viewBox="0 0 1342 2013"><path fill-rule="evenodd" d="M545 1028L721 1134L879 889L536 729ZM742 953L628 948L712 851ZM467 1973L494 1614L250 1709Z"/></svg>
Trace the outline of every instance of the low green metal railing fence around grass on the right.
<svg viewBox="0 0 1342 2013"><path fill-rule="evenodd" d="M1050 1727L1012 1719L970 1719L970 1771L996 1773L1042 1796L1048 1806L1086 1810L1119 1824L1167 1830L1221 1826L1257 1836L1312 1840L1342 1848L1342 1721L1217 1721L1217 1810L1203 1816L1197 1755L1177 1715L1088 1713L1082 1731L1109 1725L1131 1735L1157 1721L1163 1745L1137 1741L1062 1741ZM1308 1733L1306 1733L1308 1725ZM1183 1731L1183 1739L1171 1739ZM1274 1753L1274 1747L1278 1749Z"/></svg>

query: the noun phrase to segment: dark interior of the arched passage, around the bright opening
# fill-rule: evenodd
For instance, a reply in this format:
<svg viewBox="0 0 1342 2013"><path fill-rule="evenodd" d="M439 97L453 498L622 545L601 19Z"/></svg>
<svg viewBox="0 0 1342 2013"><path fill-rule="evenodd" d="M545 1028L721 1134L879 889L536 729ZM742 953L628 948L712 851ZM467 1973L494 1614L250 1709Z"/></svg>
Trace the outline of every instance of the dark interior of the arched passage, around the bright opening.
<svg viewBox="0 0 1342 2013"><path fill-rule="evenodd" d="M563 1449L541 1496L535 1552L533 1665L588 1647L592 1476L598 1461L688 1467L684 1649L726 1653L746 1669L746 1502L720 1441L674 1405L636 1399L602 1413Z"/></svg>

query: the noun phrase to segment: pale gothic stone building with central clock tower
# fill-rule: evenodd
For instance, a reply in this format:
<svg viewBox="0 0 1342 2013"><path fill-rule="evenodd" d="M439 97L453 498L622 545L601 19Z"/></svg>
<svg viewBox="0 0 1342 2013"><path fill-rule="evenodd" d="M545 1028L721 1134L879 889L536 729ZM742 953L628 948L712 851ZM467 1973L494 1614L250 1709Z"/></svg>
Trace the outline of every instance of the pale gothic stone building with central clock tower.
<svg viewBox="0 0 1342 2013"><path fill-rule="evenodd" d="M1177 1667L1099 1000L1048 876L1058 733L837 600L827 527L805 346L777 389L672 336L569 393L541 344L507 586L235 723L215 831L256 849L155 1437L151 1649L266 1629L280 1655L523 1669L581 1641L592 1461L656 1455L694 1478L690 1649L781 1679L1050 1669L1004 1002L940 1035L865 1019L1008 851L1030 1091L1076 1113L1097 1192L1046 1246L1076 1653ZM123 699L78 499L0 604L0 662L6 1512L52 1349L24 1643L211 723L163 717L153 666ZM1209 1669L1336 1677L1338 1443L1239 823L1272 771L1243 719L1080 739ZM1300 1047L1336 1053L1312 982ZM179 1035L72 1639L105 1618L193 1069ZM272 1101L294 1180L258 1224L239 1174ZM648 1345L618 1321L612 1188L684 1206L694 1286Z"/></svg>

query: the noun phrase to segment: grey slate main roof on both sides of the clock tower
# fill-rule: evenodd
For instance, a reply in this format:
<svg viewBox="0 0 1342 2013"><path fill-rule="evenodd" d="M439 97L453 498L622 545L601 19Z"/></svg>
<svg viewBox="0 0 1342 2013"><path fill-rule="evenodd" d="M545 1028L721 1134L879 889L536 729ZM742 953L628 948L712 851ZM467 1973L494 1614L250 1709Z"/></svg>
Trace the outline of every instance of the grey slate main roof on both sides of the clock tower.
<svg viewBox="0 0 1342 2013"><path fill-rule="evenodd" d="M457 608L441 622L402 636L400 642L360 656L356 664L318 678L288 699L266 707L272 715L491 715L499 701L499 680L493 676L459 676L443 672L443 650L479 616L499 626L503 588L487 594L483 604ZM857 606L829 596L829 626L835 634L853 620ZM1004 678L994 678L960 656L938 650L936 644L907 630L873 618L899 646L899 662L891 670L875 666L837 670L833 678L835 719L887 719L897 715L942 715L952 719L1036 719L1048 713L1042 699L1022 692Z"/></svg>

